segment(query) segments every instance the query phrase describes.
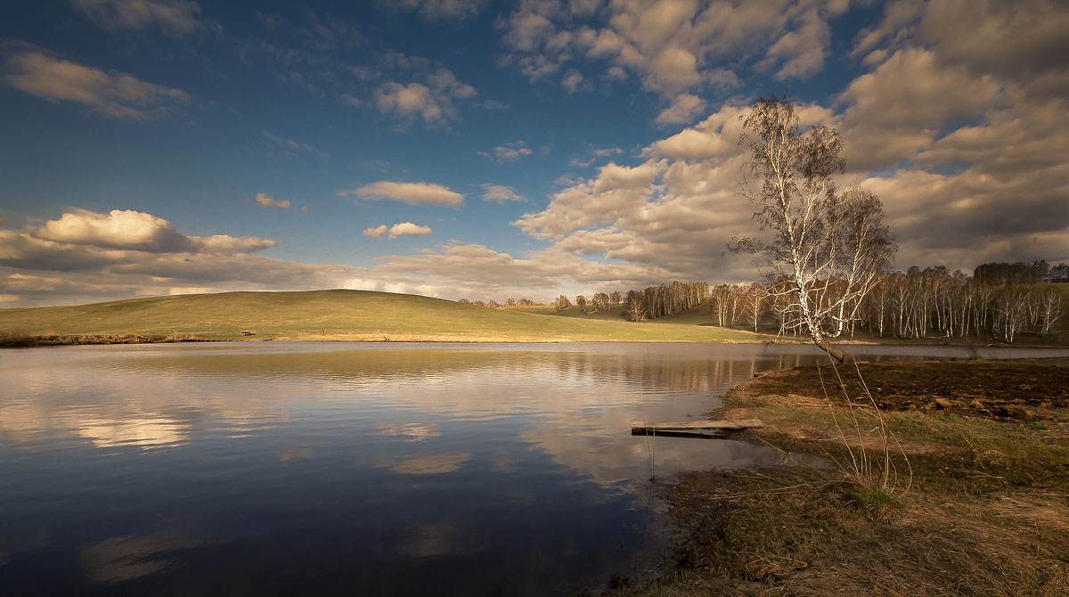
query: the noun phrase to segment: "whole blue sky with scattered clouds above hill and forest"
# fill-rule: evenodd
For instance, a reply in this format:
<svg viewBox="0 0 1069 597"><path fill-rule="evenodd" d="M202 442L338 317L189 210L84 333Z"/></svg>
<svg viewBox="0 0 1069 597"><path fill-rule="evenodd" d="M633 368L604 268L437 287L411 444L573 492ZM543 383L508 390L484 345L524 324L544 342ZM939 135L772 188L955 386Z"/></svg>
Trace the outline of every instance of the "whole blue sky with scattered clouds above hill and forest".
<svg viewBox="0 0 1069 597"><path fill-rule="evenodd" d="M754 280L724 252L772 95L842 136L898 269L1069 260L1069 2L0 11L0 307Z"/></svg>

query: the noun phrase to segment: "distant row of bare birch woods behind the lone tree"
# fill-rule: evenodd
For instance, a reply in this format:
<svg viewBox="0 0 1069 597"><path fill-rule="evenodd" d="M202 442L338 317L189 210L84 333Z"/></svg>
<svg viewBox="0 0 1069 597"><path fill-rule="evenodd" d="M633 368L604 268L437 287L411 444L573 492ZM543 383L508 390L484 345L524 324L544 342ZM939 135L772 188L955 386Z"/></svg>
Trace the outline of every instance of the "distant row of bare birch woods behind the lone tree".
<svg viewBox="0 0 1069 597"><path fill-rule="evenodd" d="M925 337L997 338L1012 342L1024 333L1045 337L1057 330L1063 317L1062 294L1056 288L1037 285L1069 284L1069 264L1045 261L983 263L970 276L945 266L914 265L905 272L888 272L858 302L846 305L836 317L841 336L868 331L878 337L915 339ZM828 279L815 290L817 301L837 297L840 280ZM679 282L644 290L599 292L575 297L583 312L598 312L623 305L620 317L644 321L676 315L704 303L714 322L724 327L744 326L777 335L804 332L786 279L741 285L710 286ZM467 301L486 307L536 306L527 298L503 303ZM560 295L551 303L558 311L572 306Z"/></svg>

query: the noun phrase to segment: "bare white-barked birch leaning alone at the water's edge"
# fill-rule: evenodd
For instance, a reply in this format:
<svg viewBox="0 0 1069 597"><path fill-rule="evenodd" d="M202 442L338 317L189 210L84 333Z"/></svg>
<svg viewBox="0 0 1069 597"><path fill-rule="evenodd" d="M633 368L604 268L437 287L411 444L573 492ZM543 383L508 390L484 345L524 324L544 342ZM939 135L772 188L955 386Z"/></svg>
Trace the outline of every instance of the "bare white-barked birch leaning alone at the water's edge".
<svg viewBox="0 0 1069 597"><path fill-rule="evenodd" d="M838 133L822 125L802 133L786 97L759 100L743 129L750 159L741 194L757 205L754 218L768 238L734 239L730 250L761 256L766 277L786 278L789 308L814 343L843 362L850 355L830 339L857 317L896 249L880 199L836 192L833 175L845 169Z"/></svg>

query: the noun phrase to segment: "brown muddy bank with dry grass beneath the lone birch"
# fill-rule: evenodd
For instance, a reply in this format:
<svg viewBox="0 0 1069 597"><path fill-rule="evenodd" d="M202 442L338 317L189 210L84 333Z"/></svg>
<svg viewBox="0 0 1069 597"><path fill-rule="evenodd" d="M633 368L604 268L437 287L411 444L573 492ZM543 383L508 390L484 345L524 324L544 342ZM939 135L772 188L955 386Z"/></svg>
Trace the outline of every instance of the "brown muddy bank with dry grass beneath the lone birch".
<svg viewBox="0 0 1069 597"><path fill-rule="evenodd" d="M879 363L758 376L711 416L760 418L764 428L737 437L837 465L662 484L684 530L675 569L623 593L1067 594L1067 365Z"/></svg>

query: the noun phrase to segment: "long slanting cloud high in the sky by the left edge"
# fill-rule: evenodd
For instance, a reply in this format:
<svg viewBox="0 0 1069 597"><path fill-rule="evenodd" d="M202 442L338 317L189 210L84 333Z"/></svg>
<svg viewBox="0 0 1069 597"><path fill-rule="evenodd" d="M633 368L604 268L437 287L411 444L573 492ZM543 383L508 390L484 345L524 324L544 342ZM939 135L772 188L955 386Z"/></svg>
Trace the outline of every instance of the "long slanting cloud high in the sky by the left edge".
<svg viewBox="0 0 1069 597"><path fill-rule="evenodd" d="M185 91L28 50L11 56L3 80L48 102L73 102L106 117L145 121L187 104Z"/></svg>

